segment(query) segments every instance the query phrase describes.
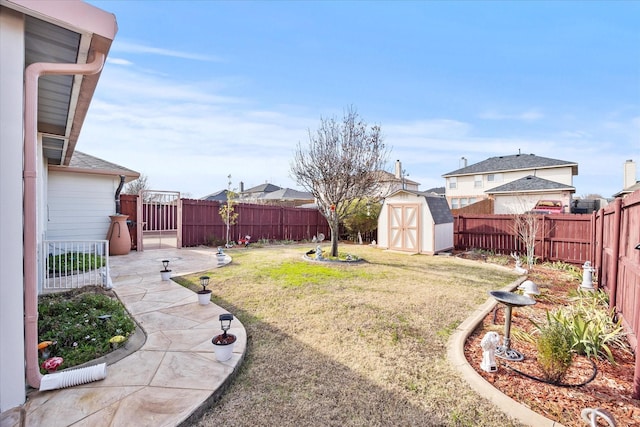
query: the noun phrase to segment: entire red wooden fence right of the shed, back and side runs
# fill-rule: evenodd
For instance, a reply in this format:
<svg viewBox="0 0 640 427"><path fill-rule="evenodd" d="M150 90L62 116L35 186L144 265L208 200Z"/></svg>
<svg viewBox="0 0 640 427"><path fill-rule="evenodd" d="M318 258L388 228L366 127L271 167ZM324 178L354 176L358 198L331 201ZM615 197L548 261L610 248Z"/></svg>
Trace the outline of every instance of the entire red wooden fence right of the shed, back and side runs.
<svg viewBox="0 0 640 427"><path fill-rule="evenodd" d="M596 269L598 286L609 294L635 351L633 398L640 399L640 191L593 214L541 215L538 221L535 255L541 261L590 261ZM512 215L455 215L454 245L525 253Z"/></svg>

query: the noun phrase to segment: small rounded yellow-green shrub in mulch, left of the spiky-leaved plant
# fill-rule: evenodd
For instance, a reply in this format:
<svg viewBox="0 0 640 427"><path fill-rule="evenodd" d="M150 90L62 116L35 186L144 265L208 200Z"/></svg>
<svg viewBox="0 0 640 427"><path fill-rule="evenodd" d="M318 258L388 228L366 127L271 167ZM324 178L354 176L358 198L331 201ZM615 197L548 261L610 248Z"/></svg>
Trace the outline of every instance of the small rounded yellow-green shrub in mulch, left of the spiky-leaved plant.
<svg viewBox="0 0 640 427"><path fill-rule="evenodd" d="M569 331L557 322L540 329L536 340L537 361L547 381L558 384L573 362Z"/></svg>

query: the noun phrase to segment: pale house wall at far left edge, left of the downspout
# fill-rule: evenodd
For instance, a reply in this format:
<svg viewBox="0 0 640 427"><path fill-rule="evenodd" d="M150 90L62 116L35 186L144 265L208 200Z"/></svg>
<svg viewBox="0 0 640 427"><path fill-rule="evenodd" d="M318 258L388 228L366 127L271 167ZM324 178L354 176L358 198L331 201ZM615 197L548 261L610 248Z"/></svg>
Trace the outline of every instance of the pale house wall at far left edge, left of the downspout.
<svg viewBox="0 0 640 427"><path fill-rule="evenodd" d="M0 6L0 411L25 401L22 283L24 21Z"/></svg>

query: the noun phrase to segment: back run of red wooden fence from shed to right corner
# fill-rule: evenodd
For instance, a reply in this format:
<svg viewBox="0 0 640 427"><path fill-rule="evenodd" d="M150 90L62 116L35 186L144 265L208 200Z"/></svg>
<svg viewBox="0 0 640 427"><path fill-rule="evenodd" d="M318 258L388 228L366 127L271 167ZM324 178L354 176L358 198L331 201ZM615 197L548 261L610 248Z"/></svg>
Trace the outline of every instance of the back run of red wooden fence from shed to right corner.
<svg viewBox="0 0 640 427"><path fill-rule="evenodd" d="M595 214L536 215L535 219L539 221L535 256L540 261L580 265L594 261ZM453 243L458 250L525 254L514 225L514 215L455 215Z"/></svg>

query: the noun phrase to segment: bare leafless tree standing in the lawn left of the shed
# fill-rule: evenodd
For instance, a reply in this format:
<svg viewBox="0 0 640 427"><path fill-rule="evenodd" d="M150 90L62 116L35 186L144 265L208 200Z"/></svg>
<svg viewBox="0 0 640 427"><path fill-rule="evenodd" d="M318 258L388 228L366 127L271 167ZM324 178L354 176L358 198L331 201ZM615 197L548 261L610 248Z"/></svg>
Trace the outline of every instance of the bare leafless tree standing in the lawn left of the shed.
<svg viewBox="0 0 640 427"><path fill-rule="evenodd" d="M383 170L387 149L380 126L369 127L353 107L341 122L320 118L309 145L298 143L291 173L313 194L331 228L331 256L338 256L338 227L354 205L379 191L377 171Z"/></svg>

